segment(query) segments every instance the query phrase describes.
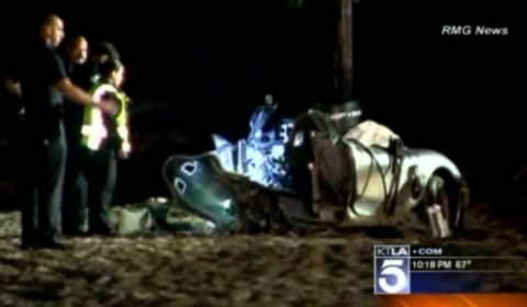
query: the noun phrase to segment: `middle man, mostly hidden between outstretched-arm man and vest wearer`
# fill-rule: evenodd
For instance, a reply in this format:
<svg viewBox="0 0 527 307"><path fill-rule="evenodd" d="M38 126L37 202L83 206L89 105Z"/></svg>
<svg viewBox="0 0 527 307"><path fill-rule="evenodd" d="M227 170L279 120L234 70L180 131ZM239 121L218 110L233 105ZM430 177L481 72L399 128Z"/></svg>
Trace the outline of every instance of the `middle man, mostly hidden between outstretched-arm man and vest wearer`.
<svg viewBox="0 0 527 307"><path fill-rule="evenodd" d="M81 36L74 36L66 44L66 68L69 78L75 82L82 82L79 67L88 59L88 41ZM66 144L66 172L61 205L63 235L80 236L86 224L86 186L81 175L82 156L80 152L80 129L82 127L83 106L74 103L64 105L64 126Z"/></svg>

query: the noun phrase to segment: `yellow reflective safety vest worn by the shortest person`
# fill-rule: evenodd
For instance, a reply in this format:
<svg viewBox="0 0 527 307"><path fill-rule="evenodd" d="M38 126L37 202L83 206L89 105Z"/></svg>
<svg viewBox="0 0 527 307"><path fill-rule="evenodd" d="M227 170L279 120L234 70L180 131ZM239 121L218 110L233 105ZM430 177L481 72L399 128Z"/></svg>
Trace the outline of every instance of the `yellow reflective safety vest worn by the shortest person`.
<svg viewBox="0 0 527 307"><path fill-rule="evenodd" d="M117 98L119 103L121 104L121 112L115 115L117 124L117 134L123 140L121 150L125 154L130 152L130 136L128 136L128 125L127 125L127 96L109 83L97 83L90 91L94 101L101 100L106 94L112 94ZM104 126L103 114L98 107L85 106L83 123L82 123L82 146L98 151L101 149L104 139L109 136L108 128Z"/></svg>

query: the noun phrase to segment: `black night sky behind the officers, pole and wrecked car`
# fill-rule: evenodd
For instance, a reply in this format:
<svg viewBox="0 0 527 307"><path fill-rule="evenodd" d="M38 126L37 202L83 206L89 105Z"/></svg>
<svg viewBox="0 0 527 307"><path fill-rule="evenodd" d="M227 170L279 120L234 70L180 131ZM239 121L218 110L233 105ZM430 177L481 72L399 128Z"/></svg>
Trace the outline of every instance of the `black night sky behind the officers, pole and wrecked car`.
<svg viewBox="0 0 527 307"><path fill-rule="evenodd" d="M293 11L285 0L46 1L45 8L15 1L1 10L1 50L9 60L16 38L29 35L32 15L55 12L67 34L117 46L138 110L136 130L184 127L237 137L266 92L285 114L332 96L334 8L329 0L305 1ZM362 0L356 5L355 53L357 95L367 116L410 146L469 162L505 160L501 149L482 144L511 129L507 139L525 139L527 132L518 123L526 101L520 5ZM507 26L511 34L441 36L445 24ZM145 106L153 110L148 116Z"/></svg>

